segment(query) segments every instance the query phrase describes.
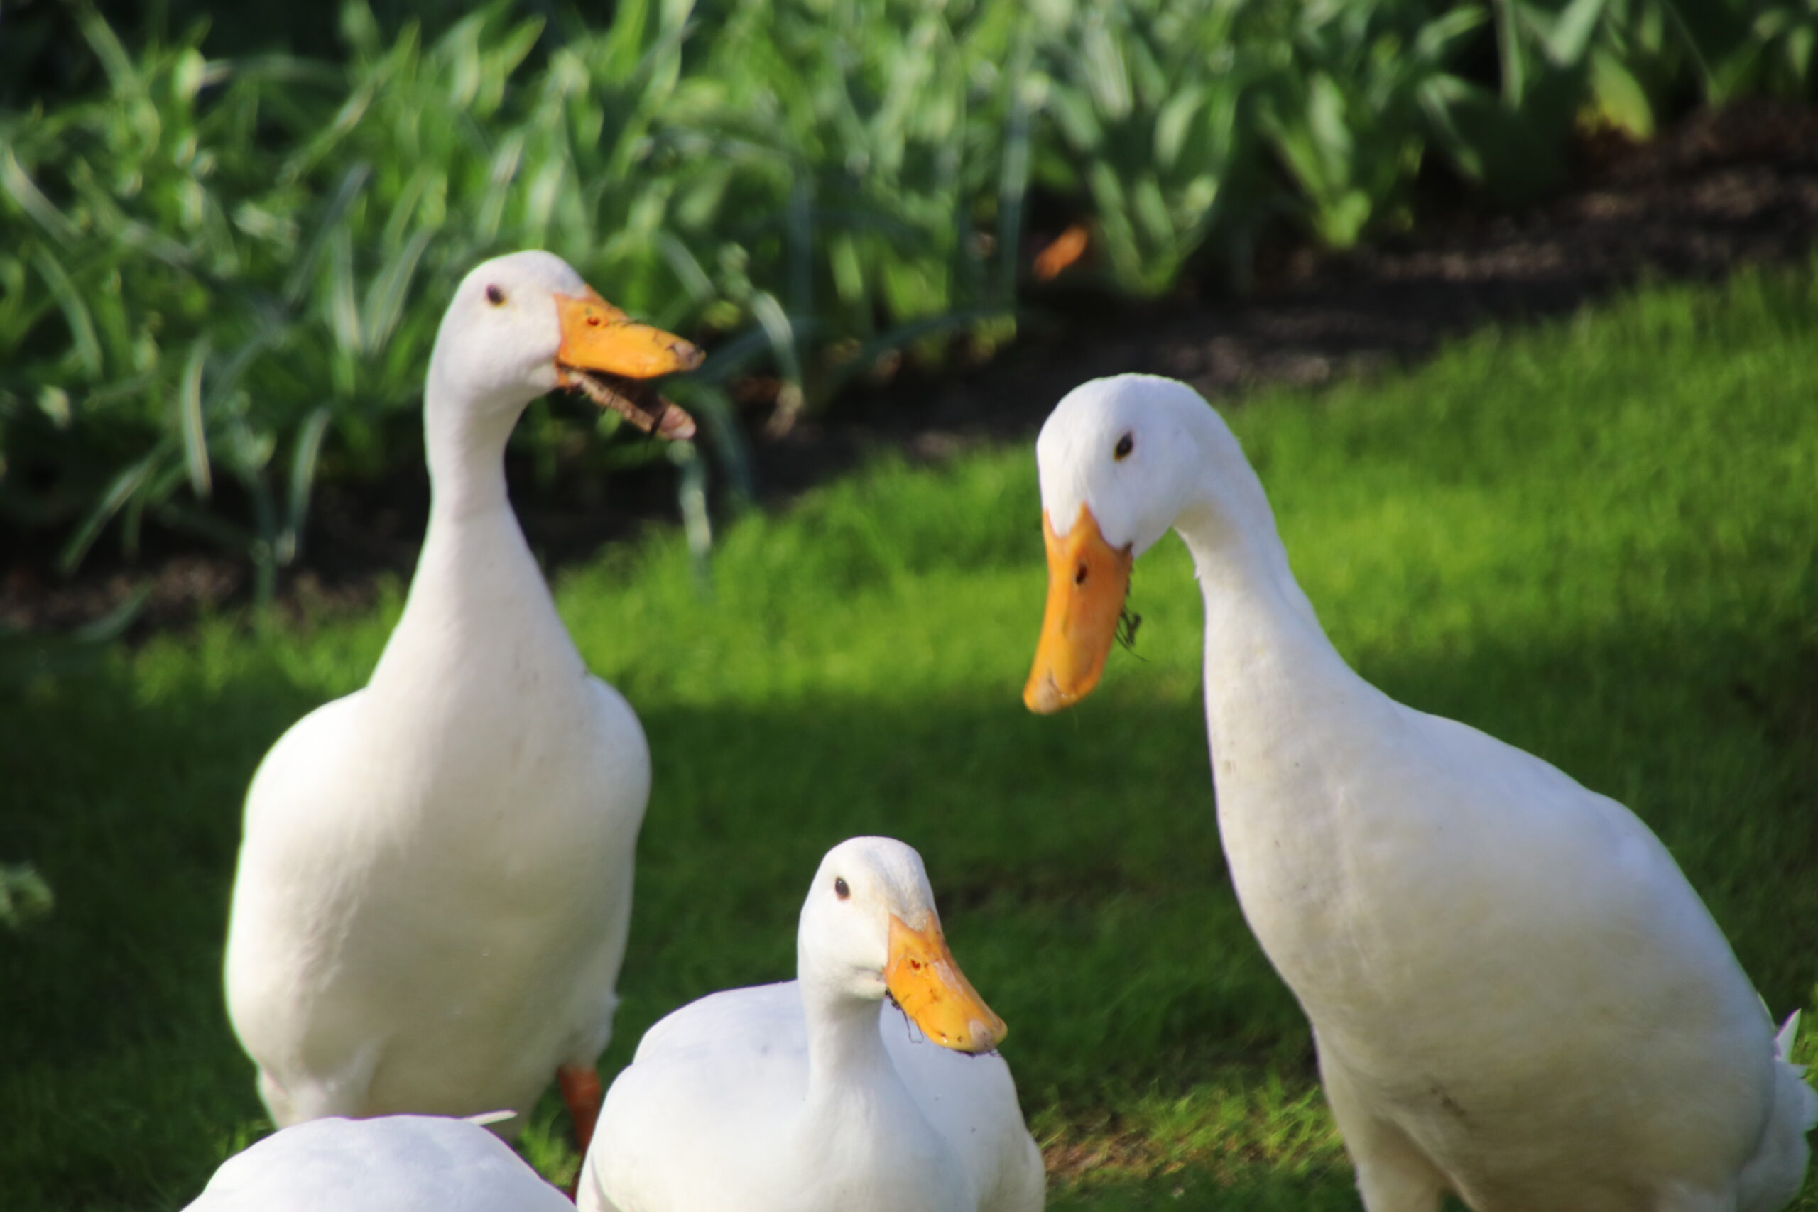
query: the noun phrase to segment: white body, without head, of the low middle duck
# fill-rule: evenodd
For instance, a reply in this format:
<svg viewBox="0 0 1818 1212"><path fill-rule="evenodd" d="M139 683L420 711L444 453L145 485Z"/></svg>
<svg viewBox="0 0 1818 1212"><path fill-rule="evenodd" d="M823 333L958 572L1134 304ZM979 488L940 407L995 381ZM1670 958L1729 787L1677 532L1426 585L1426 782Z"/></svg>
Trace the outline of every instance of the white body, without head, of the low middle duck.
<svg viewBox="0 0 1818 1212"><path fill-rule="evenodd" d="M607 1092L582 1212L1036 1212L1042 1154L1004 1058L804 972L644 1036Z"/></svg>

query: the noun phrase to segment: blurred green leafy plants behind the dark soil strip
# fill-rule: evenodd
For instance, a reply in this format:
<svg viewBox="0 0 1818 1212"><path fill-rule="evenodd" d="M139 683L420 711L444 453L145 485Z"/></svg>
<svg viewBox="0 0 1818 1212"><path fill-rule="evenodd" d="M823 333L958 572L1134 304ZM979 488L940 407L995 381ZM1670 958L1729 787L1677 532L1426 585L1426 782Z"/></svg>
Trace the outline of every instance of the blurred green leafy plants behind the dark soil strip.
<svg viewBox="0 0 1818 1212"><path fill-rule="evenodd" d="M787 423L885 353L1007 336L1033 187L1093 229L1085 273L1158 294L1194 258L1242 276L1264 225L1403 224L1431 156L1516 196L1585 114L1809 96L1818 36L1818 0L204 13L7 16L0 527L73 567L149 516L265 589L318 476L416 458L442 300L485 254L549 247L707 336L680 392L736 482L731 376L774 373ZM538 407L518 442L551 467L584 423Z"/></svg>

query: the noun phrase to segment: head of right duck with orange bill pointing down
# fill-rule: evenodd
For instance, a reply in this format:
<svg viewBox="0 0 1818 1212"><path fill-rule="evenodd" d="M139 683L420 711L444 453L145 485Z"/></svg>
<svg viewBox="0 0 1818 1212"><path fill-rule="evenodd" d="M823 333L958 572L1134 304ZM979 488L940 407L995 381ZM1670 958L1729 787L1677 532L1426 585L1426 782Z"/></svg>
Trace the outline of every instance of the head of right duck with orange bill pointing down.
<svg viewBox="0 0 1818 1212"><path fill-rule="evenodd" d="M1024 703L1053 712L1104 672L1131 565L1205 494L1224 422L1171 378L1118 374L1074 387L1036 438L1047 611Z"/></svg>

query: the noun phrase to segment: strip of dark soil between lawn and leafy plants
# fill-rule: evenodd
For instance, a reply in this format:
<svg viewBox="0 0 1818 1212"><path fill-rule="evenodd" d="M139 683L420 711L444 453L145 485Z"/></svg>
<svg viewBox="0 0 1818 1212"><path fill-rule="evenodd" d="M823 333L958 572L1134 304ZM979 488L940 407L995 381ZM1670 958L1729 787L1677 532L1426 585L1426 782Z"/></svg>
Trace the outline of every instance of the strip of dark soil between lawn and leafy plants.
<svg viewBox="0 0 1818 1212"><path fill-rule="evenodd" d="M1643 278L1714 280L1802 260L1818 234L1818 109L1753 102L1694 114L1645 145L1587 138L1576 180L1553 202L1503 214L1480 204L1425 211L1413 231L1369 249L1285 251L1258 265L1244 298L1131 303L1069 287L1064 274L1033 298L1016 345L984 365L902 371L780 438L762 436L760 412L749 416L760 496L794 494L876 449L940 460L1025 440L1062 394L1102 374L1169 374L1229 400L1258 383L1325 383L1418 360L1487 322L1556 316ZM525 469L509 471L513 483L529 482ZM533 549L562 565L673 520L673 474L656 462L609 487L558 476L520 491L516 509ZM409 576L427 500L422 471L324 485L280 600L355 605L373 598L380 576ZM0 629L75 627L149 587L135 623L144 634L251 592L238 560L176 536L147 545L136 565L96 551L69 580L49 571L49 551L0 558Z"/></svg>

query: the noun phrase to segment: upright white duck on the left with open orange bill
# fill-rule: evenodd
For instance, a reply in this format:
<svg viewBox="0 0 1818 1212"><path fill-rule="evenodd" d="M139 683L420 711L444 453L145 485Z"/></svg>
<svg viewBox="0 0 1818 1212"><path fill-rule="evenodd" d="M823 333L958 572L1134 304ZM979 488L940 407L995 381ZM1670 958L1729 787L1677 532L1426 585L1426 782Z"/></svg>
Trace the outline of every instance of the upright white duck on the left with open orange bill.
<svg viewBox="0 0 1818 1212"><path fill-rule="evenodd" d="M651 763L556 616L504 451L556 385L624 405L589 373L698 358L547 253L485 262L454 293L404 616L367 687L285 732L247 792L227 1008L280 1127L494 1108L514 1125L560 1070L585 1147Z"/></svg>

